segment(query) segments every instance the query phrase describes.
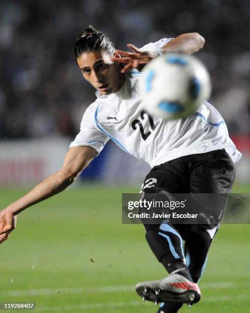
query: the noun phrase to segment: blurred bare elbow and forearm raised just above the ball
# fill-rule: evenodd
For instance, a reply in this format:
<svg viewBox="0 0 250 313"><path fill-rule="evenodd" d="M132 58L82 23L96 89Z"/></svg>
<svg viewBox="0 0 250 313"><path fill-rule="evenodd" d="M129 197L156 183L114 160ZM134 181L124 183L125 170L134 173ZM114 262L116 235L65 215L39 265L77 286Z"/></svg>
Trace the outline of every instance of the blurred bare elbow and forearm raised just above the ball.
<svg viewBox="0 0 250 313"><path fill-rule="evenodd" d="M187 33L172 39L162 49L169 53L192 54L202 49L205 39L198 33Z"/></svg>

